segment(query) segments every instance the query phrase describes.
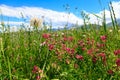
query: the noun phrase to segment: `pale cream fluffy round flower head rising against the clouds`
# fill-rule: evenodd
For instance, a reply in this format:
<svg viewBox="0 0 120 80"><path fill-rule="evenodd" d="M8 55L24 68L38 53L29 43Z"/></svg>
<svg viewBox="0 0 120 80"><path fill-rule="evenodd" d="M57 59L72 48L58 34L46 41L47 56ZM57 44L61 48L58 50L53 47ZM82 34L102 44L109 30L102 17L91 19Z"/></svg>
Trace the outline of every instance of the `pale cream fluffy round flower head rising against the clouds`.
<svg viewBox="0 0 120 80"><path fill-rule="evenodd" d="M36 28L42 26L42 19L39 19L37 17L31 18L30 26L33 26L33 27L36 27Z"/></svg>

